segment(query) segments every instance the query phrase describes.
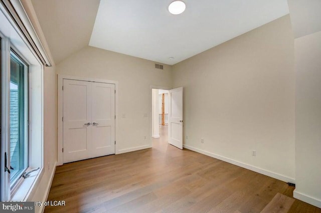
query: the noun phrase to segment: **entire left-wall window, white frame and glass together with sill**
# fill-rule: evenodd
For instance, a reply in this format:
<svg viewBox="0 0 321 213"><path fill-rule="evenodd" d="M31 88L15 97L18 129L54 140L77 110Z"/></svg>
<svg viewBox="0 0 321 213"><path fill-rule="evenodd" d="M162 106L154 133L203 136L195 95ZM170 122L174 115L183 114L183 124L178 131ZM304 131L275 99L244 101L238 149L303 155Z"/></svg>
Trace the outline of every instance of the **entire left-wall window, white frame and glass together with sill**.
<svg viewBox="0 0 321 213"><path fill-rule="evenodd" d="M12 17L0 3L2 201L30 199L45 169L44 63Z"/></svg>

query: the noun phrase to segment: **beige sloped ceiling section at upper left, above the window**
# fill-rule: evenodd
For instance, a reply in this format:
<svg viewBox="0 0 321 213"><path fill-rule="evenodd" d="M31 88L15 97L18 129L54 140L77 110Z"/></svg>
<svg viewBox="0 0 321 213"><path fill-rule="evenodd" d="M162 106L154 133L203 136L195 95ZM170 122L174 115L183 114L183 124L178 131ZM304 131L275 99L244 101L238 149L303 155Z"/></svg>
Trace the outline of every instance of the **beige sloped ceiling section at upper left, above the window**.
<svg viewBox="0 0 321 213"><path fill-rule="evenodd" d="M88 46L99 0L32 0L56 63Z"/></svg>

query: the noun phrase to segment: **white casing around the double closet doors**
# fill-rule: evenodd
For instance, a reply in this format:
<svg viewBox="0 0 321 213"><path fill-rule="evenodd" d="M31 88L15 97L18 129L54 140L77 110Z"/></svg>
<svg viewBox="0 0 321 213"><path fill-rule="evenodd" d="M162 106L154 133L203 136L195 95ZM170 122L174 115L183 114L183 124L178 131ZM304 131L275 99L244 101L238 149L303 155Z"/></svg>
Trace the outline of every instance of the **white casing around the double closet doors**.
<svg viewBox="0 0 321 213"><path fill-rule="evenodd" d="M58 127L58 135L57 135L57 165L63 164L63 80L83 80L83 81L90 81L90 82L98 82L98 83L111 83L115 84L115 140L117 141L119 135L119 128L118 128L118 81L117 80L106 80L106 79L98 79L98 78L88 78L88 77L79 77L79 76L71 76L71 75L64 75L58 74L58 100L57 100L57 127ZM115 154L118 154L117 150L117 143L115 144Z"/></svg>

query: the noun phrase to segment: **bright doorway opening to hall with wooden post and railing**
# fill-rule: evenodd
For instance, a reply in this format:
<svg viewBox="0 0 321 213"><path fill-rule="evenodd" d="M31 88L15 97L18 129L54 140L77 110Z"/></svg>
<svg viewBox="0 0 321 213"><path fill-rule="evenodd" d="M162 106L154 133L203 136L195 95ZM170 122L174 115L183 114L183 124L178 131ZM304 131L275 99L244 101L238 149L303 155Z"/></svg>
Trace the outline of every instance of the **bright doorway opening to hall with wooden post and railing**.
<svg viewBox="0 0 321 213"><path fill-rule="evenodd" d="M169 90L152 88L151 94L152 144L168 143Z"/></svg>

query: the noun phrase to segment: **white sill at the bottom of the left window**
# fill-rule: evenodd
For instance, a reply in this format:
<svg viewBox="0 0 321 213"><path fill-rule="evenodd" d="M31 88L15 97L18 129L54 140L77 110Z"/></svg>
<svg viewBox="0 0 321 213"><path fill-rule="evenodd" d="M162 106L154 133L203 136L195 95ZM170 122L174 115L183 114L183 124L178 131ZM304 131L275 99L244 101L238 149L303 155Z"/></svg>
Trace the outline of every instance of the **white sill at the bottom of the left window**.
<svg viewBox="0 0 321 213"><path fill-rule="evenodd" d="M27 201L32 198L41 180L41 177L44 174L43 167L37 172L35 171L29 177L25 178L24 181L21 183L19 188L15 191L12 195L11 200L13 201Z"/></svg>

